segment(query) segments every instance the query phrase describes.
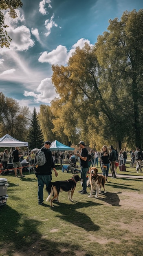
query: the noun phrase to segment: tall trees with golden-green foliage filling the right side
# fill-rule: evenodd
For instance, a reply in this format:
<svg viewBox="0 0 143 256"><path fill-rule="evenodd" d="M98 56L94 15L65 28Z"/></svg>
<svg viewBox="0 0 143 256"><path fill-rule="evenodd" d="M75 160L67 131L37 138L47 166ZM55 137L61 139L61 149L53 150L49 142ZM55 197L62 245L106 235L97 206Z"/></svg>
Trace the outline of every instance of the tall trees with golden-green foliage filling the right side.
<svg viewBox="0 0 143 256"><path fill-rule="evenodd" d="M143 9L110 20L94 47L76 48L67 66L53 65L59 94L54 132L92 144L143 146ZM63 125L64 124L64 125ZM97 140L95 140L97 143Z"/></svg>

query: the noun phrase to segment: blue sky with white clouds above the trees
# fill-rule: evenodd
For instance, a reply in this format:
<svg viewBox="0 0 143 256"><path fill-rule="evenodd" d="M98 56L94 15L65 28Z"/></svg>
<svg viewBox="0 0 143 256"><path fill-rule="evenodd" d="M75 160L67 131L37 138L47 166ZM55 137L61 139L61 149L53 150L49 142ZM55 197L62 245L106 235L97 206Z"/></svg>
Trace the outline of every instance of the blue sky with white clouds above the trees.
<svg viewBox="0 0 143 256"><path fill-rule="evenodd" d="M33 112L58 95L51 83L52 64L66 65L76 46L94 45L108 20L123 11L143 9L142 0L23 0L18 18L5 23L13 39L0 48L0 91Z"/></svg>

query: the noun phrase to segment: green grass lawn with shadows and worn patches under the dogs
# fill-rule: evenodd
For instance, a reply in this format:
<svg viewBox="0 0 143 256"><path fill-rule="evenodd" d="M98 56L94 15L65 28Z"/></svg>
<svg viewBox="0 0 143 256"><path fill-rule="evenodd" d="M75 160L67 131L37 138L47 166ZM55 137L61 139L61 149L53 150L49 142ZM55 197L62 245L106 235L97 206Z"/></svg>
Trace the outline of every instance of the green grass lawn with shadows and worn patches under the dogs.
<svg viewBox="0 0 143 256"><path fill-rule="evenodd" d="M117 167L117 173L143 175L127 166L126 172L119 172ZM99 198L88 198L89 188L88 195L77 193L81 189L77 182L74 202L68 201L67 193L62 192L60 203L53 203L51 208L50 202L38 205L35 174L24 174L23 178L2 176L10 186L7 205L0 207L0 256L143 255L143 179L109 177L107 194ZM53 181L71 176L58 170Z"/></svg>

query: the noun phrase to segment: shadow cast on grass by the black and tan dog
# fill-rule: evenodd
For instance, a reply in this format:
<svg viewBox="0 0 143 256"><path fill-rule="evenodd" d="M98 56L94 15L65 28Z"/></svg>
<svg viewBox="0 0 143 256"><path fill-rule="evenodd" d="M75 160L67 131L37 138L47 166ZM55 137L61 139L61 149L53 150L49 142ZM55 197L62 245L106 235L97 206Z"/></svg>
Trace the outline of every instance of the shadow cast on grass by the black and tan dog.
<svg viewBox="0 0 143 256"><path fill-rule="evenodd" d="M66 222L70 222L77 227L81 227L86 231L98 231L100 229L99 225L95 225L95 223L92 222L92 220L87 214L81 211L77 211L77 209L86 208L90 206L96 207L96 205L102 205L102 204L99 204L97 202L92 202L92 201L77 202L73 204L72 208L70 209L69 209L69 205L65 203L56 202L56 204L59 204L59 207L58 206L51 207L53 211L60 213L60 215L57 215L56 217L61 218Z"/></svg>

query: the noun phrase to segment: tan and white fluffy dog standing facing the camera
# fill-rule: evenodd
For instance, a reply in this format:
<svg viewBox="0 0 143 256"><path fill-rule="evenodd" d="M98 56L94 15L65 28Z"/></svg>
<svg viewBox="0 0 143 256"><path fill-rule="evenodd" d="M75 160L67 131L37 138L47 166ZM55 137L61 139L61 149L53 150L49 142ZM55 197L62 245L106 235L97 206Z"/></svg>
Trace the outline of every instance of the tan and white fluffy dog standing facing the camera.
<svg viewBox="0 0 143 256"><path fill-rule="evenodd" d="M98 174L98 169L96 167L90 167L89 173L90 173L91 191L88 198L92 197L93 190L96 190L95 198L97 198L98 194L101 193L102 186L104 189L104 193L106 194L104 176L102 174Z"/></svg>

